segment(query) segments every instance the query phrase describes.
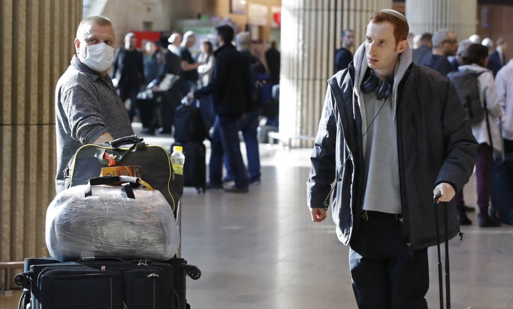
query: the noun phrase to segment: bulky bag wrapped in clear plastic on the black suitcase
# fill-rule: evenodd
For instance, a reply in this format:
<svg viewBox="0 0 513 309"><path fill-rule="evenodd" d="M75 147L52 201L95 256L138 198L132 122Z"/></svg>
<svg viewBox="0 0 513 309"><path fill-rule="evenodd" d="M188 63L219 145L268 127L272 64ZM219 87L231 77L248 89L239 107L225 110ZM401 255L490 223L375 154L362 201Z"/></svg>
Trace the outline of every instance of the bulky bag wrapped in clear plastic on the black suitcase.
<svg viewBox="0 0 513 309"><path fill-rule="evenodd" d="M171 206L160 191L130 191L132 198L120 186L79 185L60 192L46 214L50 255L58 261L171 259L180 244Z"/></svg>

